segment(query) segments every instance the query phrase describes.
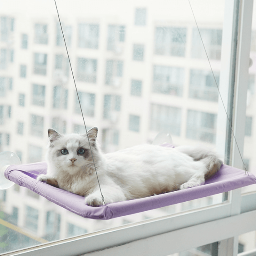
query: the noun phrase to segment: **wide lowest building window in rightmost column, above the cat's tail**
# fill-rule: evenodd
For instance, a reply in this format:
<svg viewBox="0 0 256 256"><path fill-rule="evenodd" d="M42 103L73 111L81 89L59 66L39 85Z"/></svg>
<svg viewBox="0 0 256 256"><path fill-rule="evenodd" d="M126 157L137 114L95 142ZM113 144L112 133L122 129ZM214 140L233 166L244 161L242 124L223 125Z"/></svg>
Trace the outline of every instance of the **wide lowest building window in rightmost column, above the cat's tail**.
<svg viewBox="0 0 256 256"><path fill-rule="evenodd" d="M215 143L217 115L195 110L188 110L186 137Z"/></svg>

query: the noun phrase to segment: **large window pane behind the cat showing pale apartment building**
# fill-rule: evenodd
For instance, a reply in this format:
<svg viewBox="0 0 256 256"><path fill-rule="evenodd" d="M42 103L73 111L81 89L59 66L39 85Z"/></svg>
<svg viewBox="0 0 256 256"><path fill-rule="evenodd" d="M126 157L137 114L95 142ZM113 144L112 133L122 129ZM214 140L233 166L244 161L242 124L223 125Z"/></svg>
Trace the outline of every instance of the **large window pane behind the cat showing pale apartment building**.
<svg viewBox="0 0 256 256"><path fill-rule="evenodd" d="M28 4L35 8L23 13L20 1L6 1L0 15L0 151L17 153L23 164L45 161L48 128L85 133L55 6ZM152 143L161 132L171 134L175 146L215 147L219 96L187 0L57 4L86 127L98 127L103 153ZM194 1L192 7L219 83L224 1ZM248 109L256 102L250 74ZM255 133L250 109L248 143ZM105 221L19 190L1 194L1 218L29 232L1 226L0 252L222 202L222 194L214 195Z"/></svg>

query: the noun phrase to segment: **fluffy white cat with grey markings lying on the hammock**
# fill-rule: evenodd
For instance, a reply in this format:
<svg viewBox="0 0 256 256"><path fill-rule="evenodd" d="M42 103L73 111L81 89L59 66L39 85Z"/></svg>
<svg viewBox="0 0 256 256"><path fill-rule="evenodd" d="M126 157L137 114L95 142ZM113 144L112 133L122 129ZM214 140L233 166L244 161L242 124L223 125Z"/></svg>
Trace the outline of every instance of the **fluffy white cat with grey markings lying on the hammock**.
<svg viewBox="0 0 256 256"><path fill-rule="evenodd" d="M207 149L140 145L102 154L96 142L98 129L87 135L61 135L48 130L47 174L37 180L85 196L85 204L102 205L190 188L204 183L222 162ZM92 159L93 156L93 159Z"/></svg>

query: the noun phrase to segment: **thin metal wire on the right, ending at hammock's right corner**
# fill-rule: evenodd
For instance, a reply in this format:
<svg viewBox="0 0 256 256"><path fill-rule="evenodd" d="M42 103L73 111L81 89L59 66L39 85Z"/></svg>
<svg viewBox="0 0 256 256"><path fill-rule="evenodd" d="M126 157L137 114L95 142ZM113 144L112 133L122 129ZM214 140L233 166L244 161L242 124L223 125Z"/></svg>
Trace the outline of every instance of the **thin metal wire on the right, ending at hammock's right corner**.
<svg viewBox="0 0 256 256"><path fill-rule="evenodd" d="M228 117L228 112L227 112L227 110L226 110L226 108L225 108L224 101L223 101L223 99L222 99L222 97L221 97L220 88L219 88L219 85L218 85L218 83L217 83L217 81L216 81L215 75L214 75L214 73L213 73L212 65L211 65L210 59L209 59L209 57L208 57L206 48L205 48L205 46L204 46L204 41L203 41L203 38L202 38L202 36L201 36L200 29L199 29L199 27L198 27L198 25L197 25L196 17L195 17L193 8L192 8L192 6L191 6L190 0L188 0L188 3L189 3L189 5L190 5L190 9L191 9L191 11L192 11L192 14L193 14L193 17L194 17L194 20L195 20L195 23L196 23L196 28L197 28L197 30L198 30L198 33L199 33L201 42L202 42L202 44L203 44L204 52L205 52L206 57L207 57L207 60L208 60L208 62L209 62L209 66L210 66L210 68L211 68L212 76L213 76L214 82L215 82L215 84L216 84L216 87L217 87L217 89L218 89L218 92L219 92L219 95L220 95L220 100L221 100L222 105L223 105L223 108L224 108L224 110L225 110L225 113L226 113L226 116L227 116L227 119L228 119L228 123L229 123L229 127L230 127L230 129L231 129L231 132L232 132L233 138L234 138L234 140L235 140L235 143L236 143L236 146L237 146L239 155L240 155L241 160L242 160L242 162L243 162L244 171L245 171L245 174L246 174L246 173L248 173L248 171L247 171L246 165L245 165L245 163L244 163L244 159L243 159L243 156L242 156L242 154L241 154L240 148L239 148L238 143L237 143L237 141L236 141L236 136L235 136L234 130L233 130L233 128L232 128L231 121L230 121L230 119L229 119L229 117Z"/></svg>

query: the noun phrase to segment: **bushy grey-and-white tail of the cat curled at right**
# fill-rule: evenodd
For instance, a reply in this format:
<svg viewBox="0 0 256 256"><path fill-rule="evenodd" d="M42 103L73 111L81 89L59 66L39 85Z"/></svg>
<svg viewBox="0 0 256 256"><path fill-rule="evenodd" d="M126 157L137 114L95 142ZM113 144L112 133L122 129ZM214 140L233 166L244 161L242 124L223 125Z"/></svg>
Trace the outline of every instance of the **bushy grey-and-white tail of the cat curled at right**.
<svg viewBox="0 0 256 256"><path fill-rule="evenodd" d="M179 146L176 148L180 152L191 156L194 161L202 161L205 164L207 168L207 172L204 174L205 180L211 178L213 174L218 172L220 166L223 164L217 154L208 148L194 146Z"/></svg>

